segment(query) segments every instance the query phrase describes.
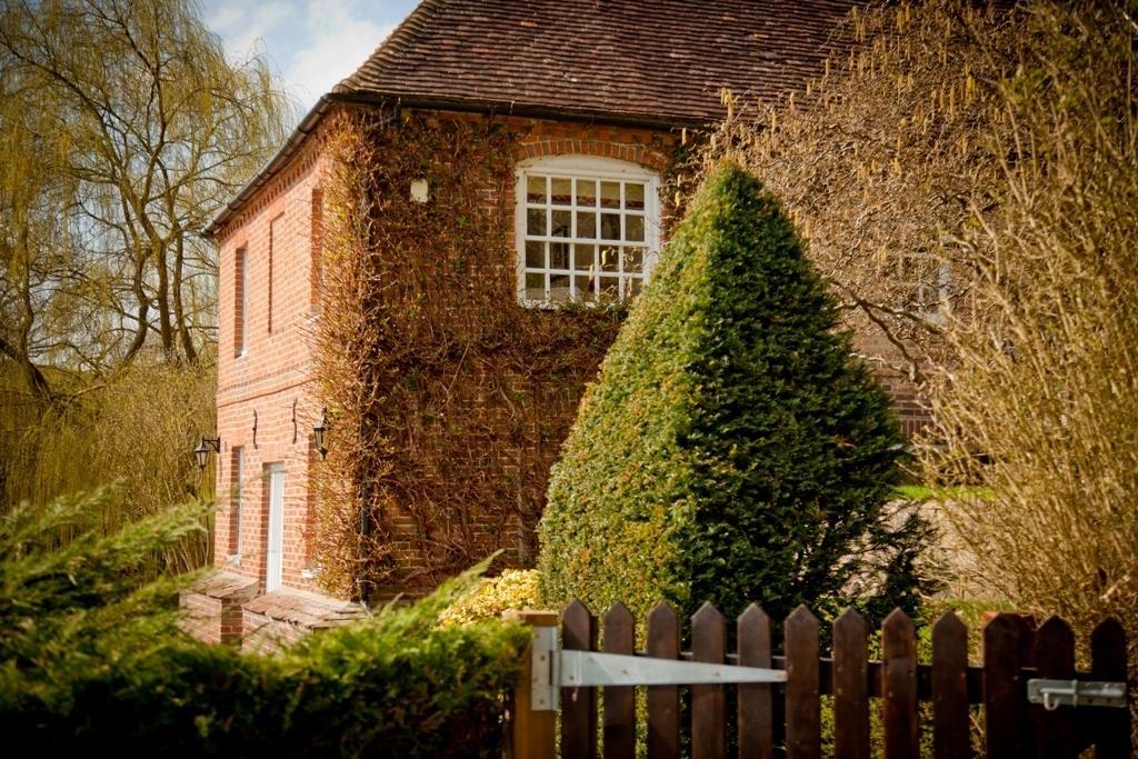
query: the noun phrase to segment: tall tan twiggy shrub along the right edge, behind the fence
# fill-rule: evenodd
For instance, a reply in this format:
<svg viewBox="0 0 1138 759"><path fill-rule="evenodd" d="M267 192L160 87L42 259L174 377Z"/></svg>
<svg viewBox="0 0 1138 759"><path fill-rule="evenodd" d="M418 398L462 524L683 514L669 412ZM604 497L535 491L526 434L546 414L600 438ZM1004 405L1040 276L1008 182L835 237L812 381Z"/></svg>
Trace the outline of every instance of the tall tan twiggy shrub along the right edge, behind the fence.
<svg viewBox="0 0 1138 759"><path fill-rule="evenodd" d="M933 383L932 473L993 594L1138 637L1138 25L1040 3L999 82L998 205L968 228L971 317ZM984 40L986 43L991 41Z"/></svg>

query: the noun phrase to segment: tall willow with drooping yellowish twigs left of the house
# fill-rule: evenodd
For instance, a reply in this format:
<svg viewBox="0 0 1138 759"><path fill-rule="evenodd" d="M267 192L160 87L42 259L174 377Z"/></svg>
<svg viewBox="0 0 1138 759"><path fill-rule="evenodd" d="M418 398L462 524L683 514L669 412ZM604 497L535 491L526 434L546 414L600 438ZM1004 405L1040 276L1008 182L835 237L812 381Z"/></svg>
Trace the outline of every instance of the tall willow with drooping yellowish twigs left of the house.
<svg viewBox="0 0 1138 759"><path fill-rule="evenodd" d="M226 60L189 0L17 0L0 9L0 350L104 369L211 339L199 239L292 117L266 63ZM58 306L57 308L53 306Z"/></svg>

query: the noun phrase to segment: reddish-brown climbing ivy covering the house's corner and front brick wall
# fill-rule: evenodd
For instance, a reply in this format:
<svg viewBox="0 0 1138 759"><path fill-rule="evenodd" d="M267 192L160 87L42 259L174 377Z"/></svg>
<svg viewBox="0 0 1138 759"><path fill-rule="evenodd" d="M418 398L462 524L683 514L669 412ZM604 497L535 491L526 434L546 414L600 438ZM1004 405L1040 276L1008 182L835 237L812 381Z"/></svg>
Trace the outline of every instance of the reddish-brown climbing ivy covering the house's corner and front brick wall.
<svg viewBox="0 0 1138 759"><path fill-rule="evenodd" d="M328 591L415 593L497 550L533 562L550 465L624 310L518 304L517 139L488 118L374 112L329 131Z"/></svg>

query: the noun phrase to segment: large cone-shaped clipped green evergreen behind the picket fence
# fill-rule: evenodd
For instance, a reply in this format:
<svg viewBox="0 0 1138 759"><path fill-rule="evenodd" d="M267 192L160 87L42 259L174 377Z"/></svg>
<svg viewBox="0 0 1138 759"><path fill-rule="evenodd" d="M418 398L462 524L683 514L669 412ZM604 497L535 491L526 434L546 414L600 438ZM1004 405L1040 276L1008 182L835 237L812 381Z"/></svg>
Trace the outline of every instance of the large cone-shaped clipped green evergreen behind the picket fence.
<svg viewBox="0 0 1138 759"><path fill-rule="evenodd" d="M890 514L902 438L780 204L715 173L588 388L542 520L542 593L781 618L914 609L927 527Z"/></svg>

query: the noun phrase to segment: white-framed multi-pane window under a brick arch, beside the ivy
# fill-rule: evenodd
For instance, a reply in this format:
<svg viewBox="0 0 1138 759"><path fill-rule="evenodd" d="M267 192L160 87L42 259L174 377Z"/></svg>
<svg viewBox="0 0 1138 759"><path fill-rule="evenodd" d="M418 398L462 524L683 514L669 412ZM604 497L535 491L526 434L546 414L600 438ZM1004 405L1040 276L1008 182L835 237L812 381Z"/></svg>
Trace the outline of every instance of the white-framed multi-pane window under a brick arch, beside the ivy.
<svg viewBox="0 0 1138 759"><path fill-rule="evenodd" d="M624 300L660 250L659 175L595 156L518 165L518 297L526 305Z"/></svg>

